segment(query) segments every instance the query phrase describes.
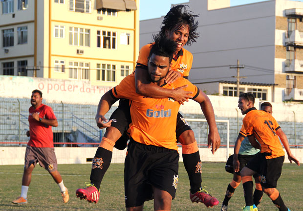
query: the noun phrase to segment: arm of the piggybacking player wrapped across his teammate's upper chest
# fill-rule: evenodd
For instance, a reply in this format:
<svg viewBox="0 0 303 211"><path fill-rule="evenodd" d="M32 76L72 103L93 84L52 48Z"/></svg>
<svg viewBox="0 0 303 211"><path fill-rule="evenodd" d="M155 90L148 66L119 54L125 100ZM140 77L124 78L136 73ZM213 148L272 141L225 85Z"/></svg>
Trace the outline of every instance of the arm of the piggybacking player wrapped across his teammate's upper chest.
<svg viewBox="0 0 303 211"><path fill-rule="evenodd" d="M136 83L136 93L152 98L168 98L171 97L175 101L183 104L184 101L188 101L192 98L190 94L192 92L184 91L185 87L179 87L174 90L164 89L156 84L151 83L149 80L148 71L136 68L135 70L135 83Z"/></svg>

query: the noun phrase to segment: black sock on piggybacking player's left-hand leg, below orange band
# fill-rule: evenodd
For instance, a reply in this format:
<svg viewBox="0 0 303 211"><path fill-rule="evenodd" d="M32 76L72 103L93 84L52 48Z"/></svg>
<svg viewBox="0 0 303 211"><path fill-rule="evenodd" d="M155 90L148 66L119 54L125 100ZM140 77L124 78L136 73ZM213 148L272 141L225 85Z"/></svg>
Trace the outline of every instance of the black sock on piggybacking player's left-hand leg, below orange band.
<svg viewBox="0 0 303 211"><path fill-rule="evenodd" d="M90 183L100 190L100 185L104 177L105 172L111 162L112 151L105 148L98 147L95 157L92 161L91 173L90 173Z"/></svg>

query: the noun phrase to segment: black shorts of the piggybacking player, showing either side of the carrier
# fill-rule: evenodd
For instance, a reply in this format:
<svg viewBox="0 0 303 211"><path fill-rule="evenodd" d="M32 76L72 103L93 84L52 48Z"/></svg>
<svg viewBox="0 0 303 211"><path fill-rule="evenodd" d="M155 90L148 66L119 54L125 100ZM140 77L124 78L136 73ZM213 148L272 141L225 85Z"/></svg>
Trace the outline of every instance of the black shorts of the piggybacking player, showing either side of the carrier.
<svg viewBox="0 0 303 211"><path fill-rule="evenodd" d="M122 136L128 134L127 131L131 123L129 100L120 99L118 108L111 114L109 119L112 120L111 126L117 128ZM185 118L180 113L178 113L176 124L176 138L178 139L179 136L186 130L191 130L191 127Z"/></svg>

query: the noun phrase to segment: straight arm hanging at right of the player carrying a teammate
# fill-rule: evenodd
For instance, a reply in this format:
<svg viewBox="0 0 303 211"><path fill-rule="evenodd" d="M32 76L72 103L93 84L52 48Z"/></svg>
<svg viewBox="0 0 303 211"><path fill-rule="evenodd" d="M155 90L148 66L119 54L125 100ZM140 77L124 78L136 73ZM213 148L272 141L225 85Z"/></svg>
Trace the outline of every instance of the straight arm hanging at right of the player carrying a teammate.
<svg viewBox="0 0 303 211"><path fill-rule="evenodd" d="M201 90L199 95L194 99L196 102L200 103L201 110L206 118L206 121L209 126L208 134L208 148L212 147L212 152L215 154L216 150L220 147L221 139L219 136L218 128L216 127L215 113L213 105L208 98L208 96L203 93Z"/></svg>

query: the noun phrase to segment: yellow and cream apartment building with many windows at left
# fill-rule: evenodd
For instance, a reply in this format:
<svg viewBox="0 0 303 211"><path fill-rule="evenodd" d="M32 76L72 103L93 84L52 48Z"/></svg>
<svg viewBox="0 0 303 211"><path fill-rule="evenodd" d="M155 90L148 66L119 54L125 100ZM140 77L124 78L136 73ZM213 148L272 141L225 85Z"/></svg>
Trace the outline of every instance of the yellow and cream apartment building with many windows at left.
<svg viewBox="0 0 303 211"><path fill-rule="evenodd" d="M0 0L0 74L115 86L135 67L139 0Z"/></svg>

